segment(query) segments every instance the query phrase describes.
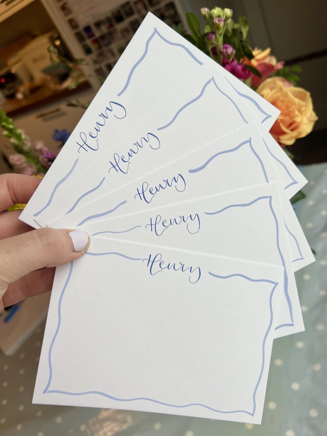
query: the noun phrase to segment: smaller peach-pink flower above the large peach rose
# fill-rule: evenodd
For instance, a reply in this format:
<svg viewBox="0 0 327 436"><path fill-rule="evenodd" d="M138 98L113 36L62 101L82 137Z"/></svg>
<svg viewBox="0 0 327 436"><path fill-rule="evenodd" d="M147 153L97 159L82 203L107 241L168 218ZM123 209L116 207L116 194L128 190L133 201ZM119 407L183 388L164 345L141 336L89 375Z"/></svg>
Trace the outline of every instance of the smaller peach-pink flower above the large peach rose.
<svg viewBox="0 0 327 436"><path fill-rule="evenodd" d="M257 88L267 77L269 77L274 71L280 70L284 66L284 62L277 62L275 56L271 54L271 48L266 50L257 49L252 51L254 55L253 59L244 59L244 63L252 65L261 73L262 77L252 75L251 86Z"/></svg>

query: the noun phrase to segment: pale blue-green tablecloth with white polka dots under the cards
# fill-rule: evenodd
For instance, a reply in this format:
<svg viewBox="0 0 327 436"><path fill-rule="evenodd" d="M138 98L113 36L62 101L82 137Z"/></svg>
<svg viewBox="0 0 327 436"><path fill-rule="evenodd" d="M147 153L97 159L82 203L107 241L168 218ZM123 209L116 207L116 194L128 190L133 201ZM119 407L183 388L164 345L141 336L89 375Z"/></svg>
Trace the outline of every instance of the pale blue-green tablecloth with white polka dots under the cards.
<svg viewBox="0 0 327 436"><path fill-rule="evenodd" d="M295 210L316 262L296 273L306 331L275 339L261 426L121 410L33 405L44 326L0 355L1 436L327 435L327 163L300 167Z"/></svg>

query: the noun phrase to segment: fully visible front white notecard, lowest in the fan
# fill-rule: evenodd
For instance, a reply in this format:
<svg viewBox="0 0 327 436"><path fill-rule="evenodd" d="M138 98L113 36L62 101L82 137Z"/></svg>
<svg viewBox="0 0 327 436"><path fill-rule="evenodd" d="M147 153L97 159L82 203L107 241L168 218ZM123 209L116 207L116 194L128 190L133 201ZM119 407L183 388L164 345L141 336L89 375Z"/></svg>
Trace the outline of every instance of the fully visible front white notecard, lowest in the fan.
<svg viewBox="0 0 327 436"><path fill-rule="evenodd" d="M103 238L88 253L56 272L33 402L261 422L281 268Z"/></svg>

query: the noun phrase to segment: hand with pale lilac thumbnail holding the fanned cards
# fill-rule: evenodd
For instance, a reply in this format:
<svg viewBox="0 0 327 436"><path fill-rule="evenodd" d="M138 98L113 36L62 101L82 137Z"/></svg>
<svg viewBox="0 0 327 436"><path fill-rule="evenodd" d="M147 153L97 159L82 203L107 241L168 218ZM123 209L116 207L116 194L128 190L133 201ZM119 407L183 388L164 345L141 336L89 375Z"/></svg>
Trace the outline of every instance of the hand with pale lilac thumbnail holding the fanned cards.
<svg viewBox="0 0 327 436"><path fill-rule="evenodd" d="M18 219L42 180L19 174L0 175L0 312L3 307L52 289L56 266L81 257L89 247L84 231L32 229Z"/></svg>

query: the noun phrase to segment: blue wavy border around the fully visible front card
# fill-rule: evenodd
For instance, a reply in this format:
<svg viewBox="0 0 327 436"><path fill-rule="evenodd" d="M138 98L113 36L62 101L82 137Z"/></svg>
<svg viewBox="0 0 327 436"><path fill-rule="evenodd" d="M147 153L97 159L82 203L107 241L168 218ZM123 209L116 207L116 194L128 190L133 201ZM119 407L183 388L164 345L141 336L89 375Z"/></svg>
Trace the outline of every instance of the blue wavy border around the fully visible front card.
<svg viewBox="0 0 327 436"><path fill-rule="evenodd" d="M142 260L142 258L131 258L129 256L126 256L126 255L124 255L122 253L117 253L117 252L91 253L91 252L87 251L85 254L86 255L90 255L90 256L116 255L116 256L120 256L120 257L123 257L125 259L132 260L132 261L140 261L140 260ZM253 398L252 412L249 412L249 411L246 411L246 410L223 411L223 410L214 409L214 408L212 408L210 406L207 406L207 405L201 404L201 403L190 403L190 404L184 404L184 405L176 405L176 404L164 403L163 401L159 401L159 400L155 400L155 399L147 398L147 397L117 398L117 397L109 395L109 394L107 394L105 392L96 391L96 390L85 391L85 392L69 392L69 391L58 390L58 389L51 389L50 390L49 387L51 385L52 376L53 376L53 369L52 369L52 363L51 363L52 350L53 350L53 347L54 347L55 339L56 339L56 337L58 335L58 332L59 332L59 329L60 329L60 326L61 326L61 304L62 304L62 299L63 299L64 293L65 293L65 291L67 289L67 285L68 285L69 280L71 278L72 272L73 272L73 262L70 262L70 268L69 268L68 276L67 276L67 279L66 279L66 281L64 283L64 286L62 288L62 291L61 291L61 294L60 294L60 297L59 297L59 301L58 301L58 324L57 324L57 328L55 330L54 337L53 337L53 339L51 341L50 348L49 348L49 354L48 354L49 380L48 380L48 383L46 385L46 388L43 391L44 394L46 394L46 393L60 393L60 394L63 394L63 395L70 395L70 396L81 396L81 395L88 395L88 394L97 394L97 395L101 395L101 396L104 396L106 398L112 399L114 401L120 401L120 402L130 402L130 401L140 401L140 400L143 400L143 401L150 401L150 402L153 402L153 403L156 403L156 404L161 404L163 406L174 407L174 408L179 408L179 409L190 407L190 406L200 406L200 407L204 407L204 408L206 408L208 410L212 410L213 412L217 412L217 413L223 413L223 414L245 413L247 415L254 416L255 411L256 411L256 398L255 397L256 397L256 393L257 393L259 384L260 384L261 379L262 379L262 375L263 375L263 371L264 371L264 365L265 365L265 344L266 344L267 336L268 336L268 334L270 332L270 329L272 327L272 320L273 320L272 296L273 296L273 292L274 292L276 286L278 285L277 282L274 282L274 281L268 280L268 279L252 279L252 278L250 278L250 277L248 277L246 275L243 275L243 274L230 274L230 275L222 276L222 275L214 274L212 272L208 272L211 276L216 277L216 278L227 279L227 278L234 277L234 276L240 276L240 277L243 277L243 278L245 278L247 280L250 280L250 281L253 281L253 282L266 282L266 283L271 283L273 285L272 291L271 291L271 294L270 294L270 298L269 298L270 322L269 322L269 326L268 326L268 328L266 330L266 333L265 333L264 339L263 339L263 345L262 345L262 365L261 365L261 370L260 370L259 378L258 378L258 381L257 381L257 383L255 385L253 396L252 396L252 398Z"/></svg>

